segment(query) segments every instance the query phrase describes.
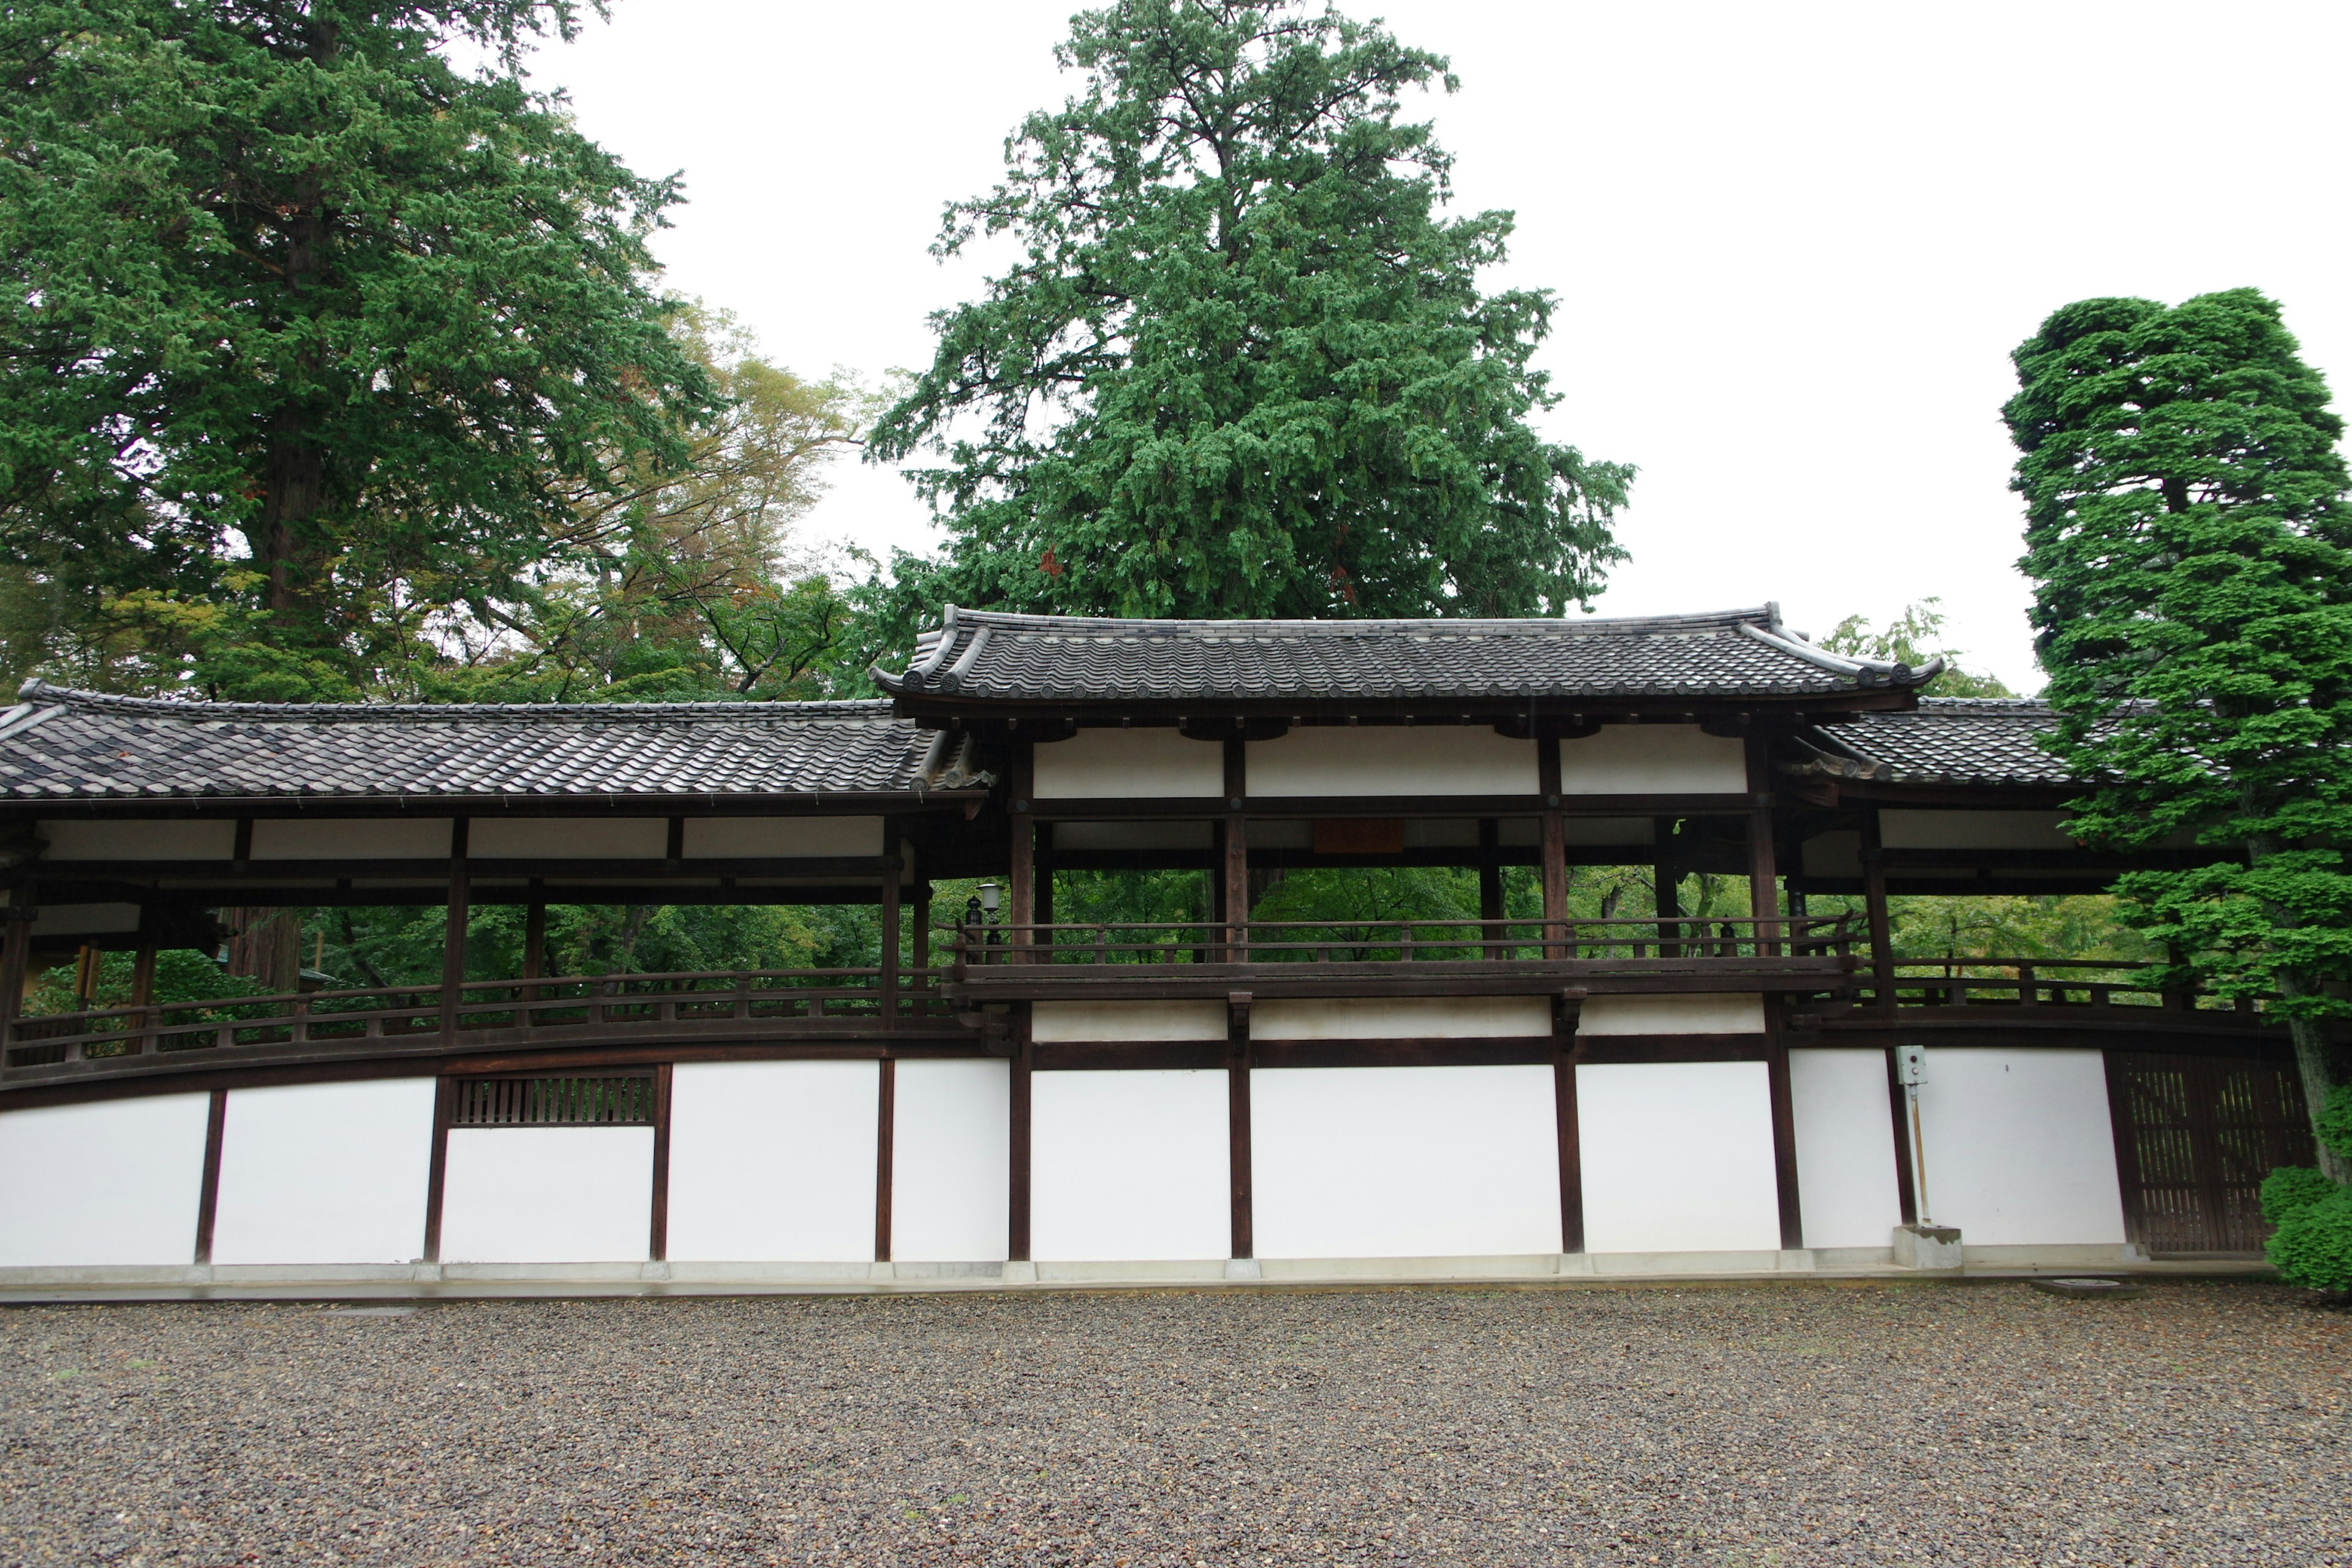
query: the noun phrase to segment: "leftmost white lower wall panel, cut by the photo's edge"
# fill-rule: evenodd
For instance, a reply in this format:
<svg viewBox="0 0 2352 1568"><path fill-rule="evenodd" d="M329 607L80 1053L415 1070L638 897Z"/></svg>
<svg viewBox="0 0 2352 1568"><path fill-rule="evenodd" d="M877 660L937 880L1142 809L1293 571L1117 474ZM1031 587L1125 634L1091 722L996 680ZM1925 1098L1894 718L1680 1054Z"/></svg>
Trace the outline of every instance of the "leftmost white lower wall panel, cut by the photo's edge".
<svg viewBox="0 0 2352 1568"><path fill-rule="evenodd" d="M212 1095L0 1114L0 1267L186 1265Z"/></svg>

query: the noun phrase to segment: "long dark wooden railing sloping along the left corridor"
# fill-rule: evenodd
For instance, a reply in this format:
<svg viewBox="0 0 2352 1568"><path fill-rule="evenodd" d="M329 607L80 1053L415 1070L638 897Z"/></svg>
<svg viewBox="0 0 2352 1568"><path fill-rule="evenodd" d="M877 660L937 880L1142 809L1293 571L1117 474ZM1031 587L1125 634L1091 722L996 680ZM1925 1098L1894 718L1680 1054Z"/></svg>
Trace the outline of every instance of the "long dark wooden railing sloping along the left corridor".
<svg viewBox="0 0 2352 1568"><path fill-rule="evenodd" d="M652 1027L724 1030L781 1020L948 1020L931 971L706 969L633 976L468 980L440 985L278 992L19 1018L7 1027L7 1070L181 1051L325 1046L365 1053L372 1041L489 1030L579 1034Z"/></svg>

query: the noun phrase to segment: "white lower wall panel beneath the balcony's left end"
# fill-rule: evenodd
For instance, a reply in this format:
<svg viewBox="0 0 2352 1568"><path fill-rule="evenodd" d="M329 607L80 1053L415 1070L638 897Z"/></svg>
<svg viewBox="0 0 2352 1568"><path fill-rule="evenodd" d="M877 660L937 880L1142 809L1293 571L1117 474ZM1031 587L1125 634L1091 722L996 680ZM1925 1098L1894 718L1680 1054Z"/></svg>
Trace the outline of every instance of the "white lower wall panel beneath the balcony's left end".
<svg viewBox="0 0 2352 1568"><path fill-rule="evenodd" d="M1030 1077L1030 1251L1051 1262L1225 1258L1225 1072Z"/></svg>

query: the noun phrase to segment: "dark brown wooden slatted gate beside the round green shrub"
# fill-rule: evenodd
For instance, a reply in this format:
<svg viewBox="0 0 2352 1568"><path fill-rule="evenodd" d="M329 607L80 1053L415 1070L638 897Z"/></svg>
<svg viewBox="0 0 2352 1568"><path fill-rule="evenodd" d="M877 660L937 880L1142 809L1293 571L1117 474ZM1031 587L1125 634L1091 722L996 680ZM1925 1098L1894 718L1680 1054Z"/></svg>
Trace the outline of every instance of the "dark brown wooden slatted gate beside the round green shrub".
<svg viewBox="0 0 2352 1568"><path fill-rule="evenodd" d="M2150 1253L2260 1253L2263 1178L2317 1159L2291 1063L2107 1053L2124 1225Z"/></svg>

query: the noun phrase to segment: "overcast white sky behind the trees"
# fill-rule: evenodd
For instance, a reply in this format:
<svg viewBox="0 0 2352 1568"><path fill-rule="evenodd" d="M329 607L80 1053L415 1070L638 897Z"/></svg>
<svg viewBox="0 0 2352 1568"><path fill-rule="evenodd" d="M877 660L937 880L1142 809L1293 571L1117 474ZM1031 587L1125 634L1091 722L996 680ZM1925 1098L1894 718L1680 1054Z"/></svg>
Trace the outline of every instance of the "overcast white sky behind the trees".
<svg viewBox="0 0 2352 1568"><path fill-rule="evenodd" d="M673 287L793 369L875 376L976 292L927 244L1073 89L1073 9L619 0L532 71L640 172L684 172ZM1548 433L1642 468L1599 614L1778 599L1820 635L1943 595L1971 661L2034 689L1999 404L2051 308L2253 284L2352 374L2347 5L1345 9L1454 59L1425 110L1456 207L1515 209L1494 284L1559 294ZM903 480L851 465L811 529L931 538Z"/></svg>

